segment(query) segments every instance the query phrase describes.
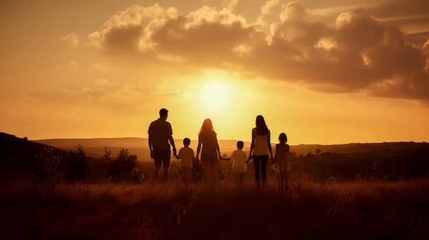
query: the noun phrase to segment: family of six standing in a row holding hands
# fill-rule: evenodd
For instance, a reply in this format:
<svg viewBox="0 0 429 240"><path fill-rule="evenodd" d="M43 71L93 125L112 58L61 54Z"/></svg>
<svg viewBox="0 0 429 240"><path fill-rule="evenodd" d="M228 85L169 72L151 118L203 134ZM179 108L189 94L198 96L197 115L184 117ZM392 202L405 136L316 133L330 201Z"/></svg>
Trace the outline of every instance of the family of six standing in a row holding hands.
<svg viewBox="0 0 429 240"><path fill-rule="evenodd" d="M271 133L263 116L256 116L256 126L252 129L252 143L250 145L249 157L243 150L244 143L237 142L237 150L231 156L224 158L217 142L217 133L212 124L212 120L204 120L198 133L197 154L189 147L191 140L183 140L184 147L180 148L178 154L173 140L173 130L171 124L167 122L167 109L160 109L160 118L154 120L149 125L148 142L151 158L154 159L155 170L154 180L158 181L161 166L163 167L162 181L167 181L169 176L169 166L171 161L171 147L173 156L180 159L180 167L183 172L185 183L191 181L191 170L193 161L201 161L203 164L204 183L214 186L217 183L216 165L219 160L233 160L232 170L236 180L236 189L243 189L247 163L253 159L255 169L255 181L258 189L265 189L267 183L267 163L271 160L271 168L279 174L279 189L289 189L287 172L289 166L289 145L286 144L285 133L280 133L279 144L275 145L275 155L271 149ZM201 154L201 155L200 155Z"/></svg>

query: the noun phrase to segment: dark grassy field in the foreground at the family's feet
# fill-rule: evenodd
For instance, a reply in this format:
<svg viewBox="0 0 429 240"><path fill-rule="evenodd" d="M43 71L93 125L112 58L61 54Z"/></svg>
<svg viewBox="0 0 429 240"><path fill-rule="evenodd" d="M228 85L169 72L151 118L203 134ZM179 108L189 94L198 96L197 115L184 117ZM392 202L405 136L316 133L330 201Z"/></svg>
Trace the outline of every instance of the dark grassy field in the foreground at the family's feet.
<svg viewBox="0 0 429 240"><path fill-rule="evenodd" d="M429 239L429 179L201 184L3 182L0 239Z"/></svg>

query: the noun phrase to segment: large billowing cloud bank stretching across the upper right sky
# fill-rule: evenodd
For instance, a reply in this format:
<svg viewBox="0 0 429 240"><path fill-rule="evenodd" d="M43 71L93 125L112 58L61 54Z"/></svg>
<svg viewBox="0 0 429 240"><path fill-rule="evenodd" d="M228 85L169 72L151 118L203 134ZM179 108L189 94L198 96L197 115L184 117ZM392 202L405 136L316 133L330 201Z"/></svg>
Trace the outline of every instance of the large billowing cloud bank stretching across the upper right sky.
<svg viewBox="0 0 429 240"><path fill-rule="evenodd" d="M248 23L232 12L236 1L229 3L230 8L203 6L188 14L158 4L134 5L90 37L105 52L154 62L235 70L319 92L429 101L427 42L423 48L407 42L398 25L370 12L381 8L356 8L324 23L300 2L271 0L256 22ZM280 12L274 23L267 21L272 12Z"/></svg>

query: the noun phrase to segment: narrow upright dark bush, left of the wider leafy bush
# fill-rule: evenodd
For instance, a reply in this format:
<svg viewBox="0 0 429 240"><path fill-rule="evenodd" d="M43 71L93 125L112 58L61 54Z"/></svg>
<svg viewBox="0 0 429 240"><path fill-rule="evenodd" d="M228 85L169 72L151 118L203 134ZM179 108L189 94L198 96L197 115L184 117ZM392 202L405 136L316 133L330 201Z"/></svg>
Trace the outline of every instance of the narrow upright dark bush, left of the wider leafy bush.
<svg viewBox="0 0 429 240"><path fill-rule="evenodd" d="M83 146L78 144L77 150L70 150L70 157L64 162L66 181L83 181L86 178L86 158Z"/></svg>

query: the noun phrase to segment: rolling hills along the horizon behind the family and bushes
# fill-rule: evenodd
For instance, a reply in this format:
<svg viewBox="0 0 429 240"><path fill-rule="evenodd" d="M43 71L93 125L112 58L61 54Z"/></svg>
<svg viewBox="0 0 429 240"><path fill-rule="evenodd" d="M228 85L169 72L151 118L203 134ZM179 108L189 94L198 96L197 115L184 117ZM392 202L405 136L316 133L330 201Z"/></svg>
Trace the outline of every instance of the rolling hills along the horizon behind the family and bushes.
<svg viewBox="0 0 429 240"><path fill-rule="evenodd" d="M103 163L99 158L104 147L116 155L121 148L127 148L130 154L137 155L139 166L150 175L153 161L149 157L147 139L145 138L97 138L97 139L44 139L29 141L7 133L0 133L0 180L17 173L34 171L34 159L43 148L52 147L55 155L66 156L69 150L82 145L88 160L88 175L93 179L106 176ZM182 141L176 140L177 148ZM220 140L222 154L230 155L236 148L235 140ZM191 142L196 150L197 141ZM248 152L250 144L245 143ZM316 154L316 150L319 154ZM395 142L376 144L342 144L342 145L298 145L291 146L296 155L291 159L293 172L306 172L319 179L330 176L338 179L354 179L356 176L378 178L395 178L395 176L426 176L429 174L429 145L425 142ZM269 163L271 164L271 162ZM178 168L178 161L172 159L172 170ZM231 169L231 161L221 161L225 170ZM253 164L248 165L253 170ZM273 174L273 171L270 171Z"/></svg>

